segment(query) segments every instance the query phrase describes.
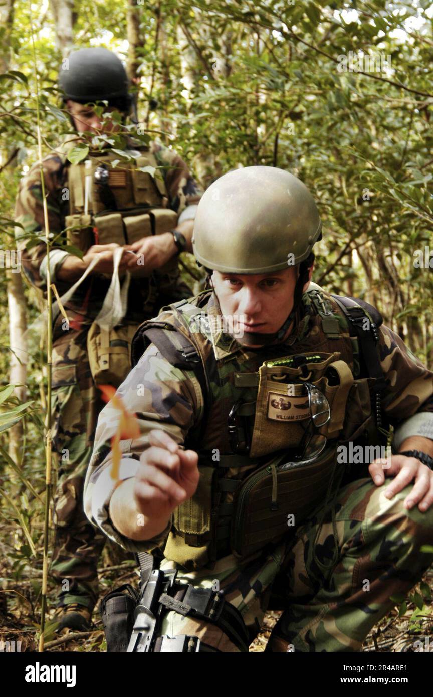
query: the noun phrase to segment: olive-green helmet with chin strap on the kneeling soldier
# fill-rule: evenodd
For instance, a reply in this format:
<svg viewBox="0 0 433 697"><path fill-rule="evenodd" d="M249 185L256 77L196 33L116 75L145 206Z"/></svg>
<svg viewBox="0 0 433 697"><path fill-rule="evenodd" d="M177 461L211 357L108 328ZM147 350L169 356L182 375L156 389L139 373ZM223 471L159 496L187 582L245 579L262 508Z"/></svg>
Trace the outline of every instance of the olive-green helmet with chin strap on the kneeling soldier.
<svg viewBox="0 0 433 697"><path fill-rule="evenodd" d="M308 280L322 222L313 196L296 176L276 167L244 167L206 190L194 221L194 254L207 269L262 274L297 266L292 312L272 334L249 333L243 343L269 344L285 335ZM311 264L309 265L311 266Z"/></svg>

